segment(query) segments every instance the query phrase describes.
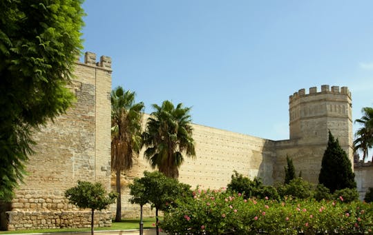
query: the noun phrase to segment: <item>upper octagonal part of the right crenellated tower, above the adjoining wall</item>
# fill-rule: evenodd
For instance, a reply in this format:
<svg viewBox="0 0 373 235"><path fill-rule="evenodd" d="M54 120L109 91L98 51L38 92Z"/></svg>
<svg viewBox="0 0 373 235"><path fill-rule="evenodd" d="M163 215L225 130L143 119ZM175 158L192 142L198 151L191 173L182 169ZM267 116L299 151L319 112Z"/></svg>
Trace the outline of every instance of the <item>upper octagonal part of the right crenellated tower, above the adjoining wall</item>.
<svg viewBox="0 0 373 235"><path fill-rule="evenodd" d="M300 145L327 143L328 132L332 132L353 163L352 102L347 87L322 85L295 92L289 97L290 140Z"/></svg>

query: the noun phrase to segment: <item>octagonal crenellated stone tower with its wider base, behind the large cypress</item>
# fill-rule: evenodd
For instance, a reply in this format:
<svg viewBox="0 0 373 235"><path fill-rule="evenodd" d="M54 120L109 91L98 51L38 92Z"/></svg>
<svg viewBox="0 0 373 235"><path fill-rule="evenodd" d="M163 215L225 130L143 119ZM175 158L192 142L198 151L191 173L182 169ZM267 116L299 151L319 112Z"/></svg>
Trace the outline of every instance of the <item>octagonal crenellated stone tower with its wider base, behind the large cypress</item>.
<svg viewBox="0 0 373 235"><path fill-rule="evenodd" d="M298 172L318 183L321 161L327 147L329 130L349 156L353 165L352 101L347 87L322 85L295 92L289 97L290 139L276 141L274 181L283 181L286 156L293 159Z"/></svg>

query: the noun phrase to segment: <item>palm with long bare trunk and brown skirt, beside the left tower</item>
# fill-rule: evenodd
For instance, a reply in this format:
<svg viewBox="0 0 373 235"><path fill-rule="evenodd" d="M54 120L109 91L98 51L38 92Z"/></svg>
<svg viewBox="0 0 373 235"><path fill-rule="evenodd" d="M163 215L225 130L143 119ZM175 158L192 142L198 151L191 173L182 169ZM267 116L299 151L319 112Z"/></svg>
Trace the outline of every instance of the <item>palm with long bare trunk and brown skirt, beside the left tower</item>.
<svg viewBox="0 0 373 235"><path fill-rule="evenodd" d="M120 174L129 170L142 147L144 103L135 103L135 92L117 87L111 92L111 170L116 174L117 214L122 219Z"/></svg>

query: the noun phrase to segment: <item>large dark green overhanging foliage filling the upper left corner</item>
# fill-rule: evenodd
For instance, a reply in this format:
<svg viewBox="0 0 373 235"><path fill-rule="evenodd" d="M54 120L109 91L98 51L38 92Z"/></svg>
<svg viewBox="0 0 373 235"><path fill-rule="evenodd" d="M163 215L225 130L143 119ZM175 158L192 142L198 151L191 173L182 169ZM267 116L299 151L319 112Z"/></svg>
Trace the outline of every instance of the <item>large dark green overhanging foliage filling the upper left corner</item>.
<svg viewBox="0 0 373 235"><path fill-rule="evenodd" d="M32 131L74 100L82 0L0 1L0 200L10 201L32 154Z"/></svg>

